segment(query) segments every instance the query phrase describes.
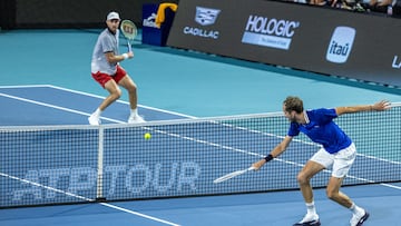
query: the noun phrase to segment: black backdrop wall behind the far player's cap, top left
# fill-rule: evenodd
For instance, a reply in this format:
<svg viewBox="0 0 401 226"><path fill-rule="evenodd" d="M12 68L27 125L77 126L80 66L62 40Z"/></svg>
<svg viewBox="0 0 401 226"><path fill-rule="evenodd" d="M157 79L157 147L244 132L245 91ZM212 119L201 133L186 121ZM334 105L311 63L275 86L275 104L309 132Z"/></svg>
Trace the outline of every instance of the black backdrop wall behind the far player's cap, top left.
<svg viewBox="0 0 401 226"><path fill-rule="evenodd" d="M14 28L94 28L102 27L107 12L141 26L144 3L162 0L0 0L0 27ZM167 2L178 3L178 0Z"/></svg>

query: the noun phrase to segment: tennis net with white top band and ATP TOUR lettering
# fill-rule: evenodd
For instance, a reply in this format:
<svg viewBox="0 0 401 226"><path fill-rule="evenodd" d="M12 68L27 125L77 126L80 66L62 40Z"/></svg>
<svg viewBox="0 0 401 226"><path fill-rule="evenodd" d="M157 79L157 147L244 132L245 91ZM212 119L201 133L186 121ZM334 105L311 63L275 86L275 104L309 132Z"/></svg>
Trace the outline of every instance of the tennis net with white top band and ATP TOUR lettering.
<svg viewBox="0 0 401 226"><path fill-rule="evenodd" d="M359 153L344 185L401 181L400 118L401 105L393 104L335 119ZM0 207L297 189L296 174L320 148L304 135L261 170L213 184L264 157L287 128L282 114L0 127ZM312 185L324 187L330 175Z"/></svg>

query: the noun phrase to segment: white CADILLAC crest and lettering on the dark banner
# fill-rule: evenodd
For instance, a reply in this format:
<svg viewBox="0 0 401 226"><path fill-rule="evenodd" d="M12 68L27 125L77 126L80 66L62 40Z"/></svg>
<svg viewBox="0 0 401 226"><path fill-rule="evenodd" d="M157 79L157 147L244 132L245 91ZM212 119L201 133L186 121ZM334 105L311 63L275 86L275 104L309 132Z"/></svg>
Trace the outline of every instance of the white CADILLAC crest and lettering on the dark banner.
<svg viewBox="0 0 401 226"><path fill-rule="evenodd" d="M222 10L219 9L196 7L195 22L199 23L203 27L212 26L216 22L221 11ZM219 35L219 32L216 30L189 26L186 26L184 28L184 33L211 39L218 39Z"/></svg>

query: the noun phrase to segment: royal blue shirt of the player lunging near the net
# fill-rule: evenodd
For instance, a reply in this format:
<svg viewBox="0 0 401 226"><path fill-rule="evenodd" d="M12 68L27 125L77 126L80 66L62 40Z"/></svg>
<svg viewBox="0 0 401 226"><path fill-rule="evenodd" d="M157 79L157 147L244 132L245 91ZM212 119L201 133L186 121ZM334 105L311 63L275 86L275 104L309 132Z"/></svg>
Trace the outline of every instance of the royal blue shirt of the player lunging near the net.
<svg viewBox="0 0 401 226"><path fill-rule="evenodd" d="M294 137L302 131L314 143L321 144L327 153L338 153L339 150L349 147L352 141L333 121L336 117L335 109L321 108L306 110L306 124L291 122L287 135Z"/></svg>

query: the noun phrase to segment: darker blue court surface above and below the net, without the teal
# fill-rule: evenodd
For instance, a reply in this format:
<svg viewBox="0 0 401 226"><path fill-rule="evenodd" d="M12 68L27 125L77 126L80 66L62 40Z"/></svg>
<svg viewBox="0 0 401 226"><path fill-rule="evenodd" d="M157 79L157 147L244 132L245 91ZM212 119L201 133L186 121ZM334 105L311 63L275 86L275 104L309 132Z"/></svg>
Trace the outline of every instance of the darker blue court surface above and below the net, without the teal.
<svg viewBox="0 0 401 226"><path fill-rule="evenodd" d="M87 124L90 105L100 97L55 86L1 87L0 100L10 108L0 117L10 125ZM102 118L121 124L128 104L119 101ZM27 117L16 114L29 108ZM189 116L140 107L147 120L183 119ZM18 120L17 120L18 119ZM263 174L263 170L260 173ZM266 177L268 178L268 177ZM261 178L263 179L263 177ZM233 184L229 184L233 186ZM235 186L235 185L234 185ZM371 213L365 225L397 225L401 207L401 184L343 188L354 202ZM349 210L326 199L324 189L315 191L323 225L348 225ZM204 196L119 203L79 204L1 209L1 225L292 225L305 208L299 191Z"/></svg>

